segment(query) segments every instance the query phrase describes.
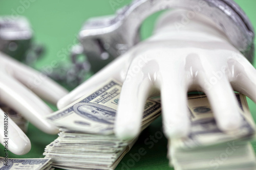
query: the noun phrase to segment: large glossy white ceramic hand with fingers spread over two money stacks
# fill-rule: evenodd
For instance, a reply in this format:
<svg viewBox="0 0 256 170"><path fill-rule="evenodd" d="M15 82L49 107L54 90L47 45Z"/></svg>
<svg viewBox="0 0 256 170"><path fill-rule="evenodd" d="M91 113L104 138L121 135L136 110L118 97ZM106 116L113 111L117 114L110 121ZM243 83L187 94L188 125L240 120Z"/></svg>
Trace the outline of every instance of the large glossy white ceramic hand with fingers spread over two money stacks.
<svg viewBox="0 0 256 170"><path fill-rule="evenodd" d="M115 78L123 82L115 121L115 133L121 138L138 134L145 100L154 89L161 91L167 137L189 132L187 91L207 94L220 129L237 129L241 118L233 90L256 102L256 70L208 18L197 14L187 25L177 27L186 12L175 10L162 16L150 39L59 100L58 108Z"/></svg>

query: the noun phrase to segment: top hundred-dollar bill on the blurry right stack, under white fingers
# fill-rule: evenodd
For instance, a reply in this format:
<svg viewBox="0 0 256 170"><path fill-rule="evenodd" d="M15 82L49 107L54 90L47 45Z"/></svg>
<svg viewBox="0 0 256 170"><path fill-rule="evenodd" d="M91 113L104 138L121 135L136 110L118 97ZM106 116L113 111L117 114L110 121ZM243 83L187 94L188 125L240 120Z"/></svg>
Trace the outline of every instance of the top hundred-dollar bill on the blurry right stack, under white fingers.
<svg viewBox="0 0 256 170"><path fill-rule="evenodd" d="M190 132L187 137L172 139L172 145L180 149L204 147L232 140L250 140L255 137L255 125L251 117L246 96L236 93L241 126L233 132L224 132L218 128L214 113L206 95L195 95L188 98L190 112ZM230 117L232 119L232 117Z"/></svg>

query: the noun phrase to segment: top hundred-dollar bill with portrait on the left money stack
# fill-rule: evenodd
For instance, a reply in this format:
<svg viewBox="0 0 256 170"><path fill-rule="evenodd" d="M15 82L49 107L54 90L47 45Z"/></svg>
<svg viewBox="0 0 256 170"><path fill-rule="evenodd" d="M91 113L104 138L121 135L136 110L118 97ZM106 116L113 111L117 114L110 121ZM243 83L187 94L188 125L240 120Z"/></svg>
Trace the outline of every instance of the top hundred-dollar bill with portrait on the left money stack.
<svg viewBox="0 0 256 170"><path fill-rule="evenodd" d="M47 116L47 119L54 125L69 130L112 134L121 87L118 81L109 80L91 94L86 94L69 106ZM160 109L159 102L147 100L142 122L159 113Z"/></svg>

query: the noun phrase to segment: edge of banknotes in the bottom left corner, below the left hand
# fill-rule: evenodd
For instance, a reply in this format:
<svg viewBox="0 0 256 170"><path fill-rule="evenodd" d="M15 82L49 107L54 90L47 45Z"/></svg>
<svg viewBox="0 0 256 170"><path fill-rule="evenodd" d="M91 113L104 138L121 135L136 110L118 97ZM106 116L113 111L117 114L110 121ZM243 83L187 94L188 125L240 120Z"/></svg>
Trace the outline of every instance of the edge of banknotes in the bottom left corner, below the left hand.
<svg viewBox="0 0 256 170"><path fill-rule="evenodd" d="M51 159L13 159L0 157L0 169L53 170Z"/></svg>

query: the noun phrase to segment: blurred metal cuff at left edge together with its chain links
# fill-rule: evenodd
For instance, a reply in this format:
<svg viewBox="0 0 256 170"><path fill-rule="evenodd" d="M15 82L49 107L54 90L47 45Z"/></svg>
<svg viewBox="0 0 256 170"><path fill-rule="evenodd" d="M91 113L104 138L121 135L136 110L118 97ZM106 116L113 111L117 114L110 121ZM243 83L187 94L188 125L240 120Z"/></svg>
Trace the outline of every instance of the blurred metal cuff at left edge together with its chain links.
<svg viewBox="0 0 256 170"><path fill-rule="evenodd" d="M33 40L33 31L26 17L0 17L0 51L35 68L45 48ZM84 81L89 70L87 63L60 63L52 72L41 72L67 88L74 88ZM78 74L79 73L79 74Z"/></svg>

